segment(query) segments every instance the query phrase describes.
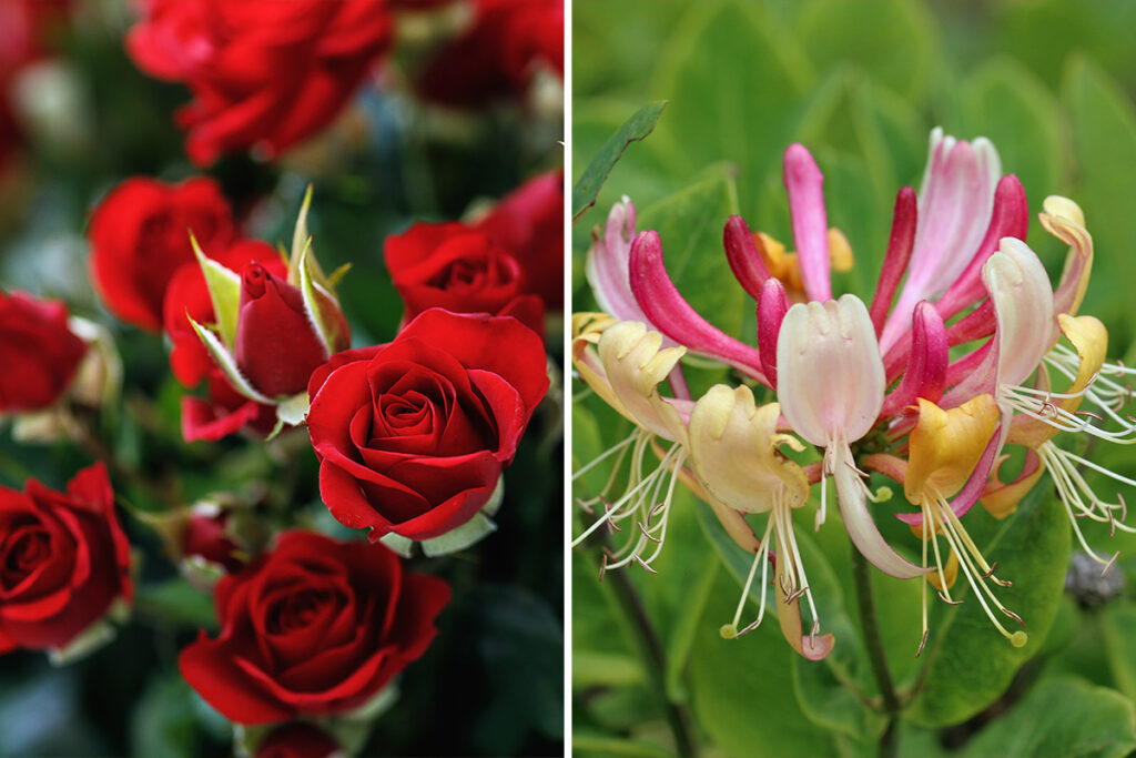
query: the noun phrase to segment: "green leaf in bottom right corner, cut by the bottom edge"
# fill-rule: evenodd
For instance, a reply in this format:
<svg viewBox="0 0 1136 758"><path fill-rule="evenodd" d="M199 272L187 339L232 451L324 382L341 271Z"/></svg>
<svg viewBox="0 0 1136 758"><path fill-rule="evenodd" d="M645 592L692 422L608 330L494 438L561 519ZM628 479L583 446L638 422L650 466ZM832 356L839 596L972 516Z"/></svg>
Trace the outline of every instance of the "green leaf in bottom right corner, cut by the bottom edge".
<svg viewBox="0 0 1136 758"><path fill-rule="evenodd" d="M1121 758L1136 749L1136 713L1119 693L1062 676L1039 683L962 751L964 758Z"/></svg>

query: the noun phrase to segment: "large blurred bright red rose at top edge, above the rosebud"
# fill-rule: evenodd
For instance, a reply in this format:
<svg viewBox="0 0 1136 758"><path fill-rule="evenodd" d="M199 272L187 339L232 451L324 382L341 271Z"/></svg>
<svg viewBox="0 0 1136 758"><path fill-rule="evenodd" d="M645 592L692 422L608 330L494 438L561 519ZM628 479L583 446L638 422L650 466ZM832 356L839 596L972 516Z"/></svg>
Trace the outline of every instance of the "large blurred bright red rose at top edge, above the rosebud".
<svg viewBox="0 0 1136 758"><path fill-rule="evenodd" d="M391 43L383 0L150 0L126 49L193 101L177 113L199 165L276 155L329 124Z"/></svg>

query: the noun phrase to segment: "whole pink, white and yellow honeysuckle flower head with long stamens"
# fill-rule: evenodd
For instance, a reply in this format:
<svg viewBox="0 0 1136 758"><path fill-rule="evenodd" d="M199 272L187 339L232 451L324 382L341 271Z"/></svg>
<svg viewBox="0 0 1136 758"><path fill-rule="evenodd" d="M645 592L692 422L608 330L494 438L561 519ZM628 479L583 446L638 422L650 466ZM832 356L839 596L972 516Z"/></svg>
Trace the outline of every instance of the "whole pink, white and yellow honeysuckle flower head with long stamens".
<svg viewBox="0 0 1136 758"><path fill-rule="evenodd" d="M1002 174L994 147L935 130L920 191L896 195L883 268L866 302L832 291L830 272L852 265L851 249L828 227L824 178L803 145L785 151L784 177L795 252L752 233L740 216L726 220L722 235L732 272L757 302L755 345L717 330L682 298L659 235L636 233L629 200L598 231L587 277L607 313L575 317L573 359L579 377L636 431L605 453L619 455L618 470L629 451L630 482L616 497L584 501L588 508L602 502L603 513L577 542L601 526L637 520L638 528L624 530L626 544L605 555L604 568L636 561L650 569L680 480L753 553L724 636L760 624L763 589L757 619L738 628L760 567L760 588L774 573L790 644L819 659L834 638L820 633L793 513L819 484L820 528L832 480L857 550L891 576L921 582L919 651L929 631L928 584L944 602L958 603L959 574L999 633L1024 645L1025 620L999 599L1010 581L968 534L967 513L980 503L1006 517L1049 470L1081 545L1104 570L1116 557L1092 551L1078 519L1131 531L1122 524L1124 499L1097 497L1079 468L1133 482L1052 441L1059 433L1136 441L1136 424L1122 411L1130 369L1104 363L1104 326L1078 315L1093 260L1080 208L1050 197L1039 215L1045 231L1069 245L1054 288L1025 242L1025 192ZM691 397L680 363L686 353L728 366L741 382ZM810 445L813 456L805 452ZM1003 482L999 472L1014 447L1024 449L1024 464ZM649 449L658 458L653 467ZM916 507L899 518L919 538L921 560L909 560L882 536L871 503L886 493L871 492L868 472L901 484ZM761 531L746 520L751 514L768 514Z"/></svg>

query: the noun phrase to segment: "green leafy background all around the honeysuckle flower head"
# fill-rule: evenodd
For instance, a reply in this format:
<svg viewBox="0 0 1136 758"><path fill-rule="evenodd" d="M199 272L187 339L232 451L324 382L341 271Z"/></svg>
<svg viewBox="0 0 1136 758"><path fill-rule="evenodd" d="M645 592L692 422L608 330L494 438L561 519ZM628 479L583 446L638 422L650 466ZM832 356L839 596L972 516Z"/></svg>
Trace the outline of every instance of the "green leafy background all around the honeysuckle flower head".
<svg viewBox="0 0 1136 758"><path fill-rule="evenodd" d="M960 139L994 142L1003 172L1026 189L1034 217L1028 242L1054 280L1066 248L1041 230L1036 214L1047 194L1081 206L1096 243L1081 313L1109 327L1110 359L1136 355L1136 3L576 0L573 24L574 178L632 114L669 101L654 133L628 147L596 207L574 228L574 309L594 308L584 252L592 228L627 194L640 230L659 231L684 295L711 323L752 342L753 303L726 265L721 227L741 213L751 228L792 247L780 159L795 141L825 173L829 224L847 235L855 256L834 290L870 297L895 192L918 189L928 134L941 125ZM720 377L696 376L695 385ZM574 391L578 467L629 427L579 382ZM1077 440L1069 444L1084 449ZM1097 447L1091 457L1136 475L1130 448ZM599 492L602 469L582 477L576 494ZM1117 490L1088 478L1104 497ZM1136 502L1130 489L1121 491ZM907 509L897 499L877 506L877 523L913 555L918 542L891 518ZM1070 536L1047 477L1006 522L979 511L966 524L1000 561L1000 575L1018 580L1003 599L1027 618L1030 643L1012 651L964 590L957 615L935 608L933 634L942 633L943 644L916 660L918 584L876 576L893 676L901 689L927 676L905 713L900 755L1128 755L1136 748L1133 592L1094 607L1084 586L1061 593ZM817 535L804 528L811 514L795 522L815 591L827 597L818 600L821 620L851 641L828 664L810 666L793 656L774 620L737 642L718 638L747 563L721 544L704 507L688 495L677 502L659 575L629 572L666 657L665 698L610 581L596 582L596 555L577 550L576 751L674 755L666 701L693 716L704 755L874 755L882 722L838 685L876 694L860 650L847 540L832 513ZM576 523L578 533L584 517ZM1118 566L1133 586L1136 539L1085 532L1104 555L1121 551ZM751 603L747 614L754 610Z"/></svg>

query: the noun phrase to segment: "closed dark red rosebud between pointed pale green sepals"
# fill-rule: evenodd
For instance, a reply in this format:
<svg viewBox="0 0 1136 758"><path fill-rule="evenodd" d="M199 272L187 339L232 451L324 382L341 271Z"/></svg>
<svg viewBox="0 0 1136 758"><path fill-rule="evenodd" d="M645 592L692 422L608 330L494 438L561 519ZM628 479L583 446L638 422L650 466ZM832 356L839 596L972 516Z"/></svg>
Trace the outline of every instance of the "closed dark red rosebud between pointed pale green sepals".
<svg viewBox="0 0 1136 758"><path fill-rule="evenodd" d="M333 351L345 349L351 343L346 319L326 298L317 300L333 324ZM302 392L311 372L328 358L300 289L260 264L249 264L241 274L235 357L252 386L270 398Z"/></svg>

